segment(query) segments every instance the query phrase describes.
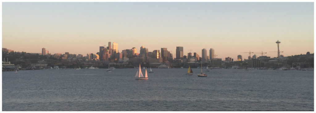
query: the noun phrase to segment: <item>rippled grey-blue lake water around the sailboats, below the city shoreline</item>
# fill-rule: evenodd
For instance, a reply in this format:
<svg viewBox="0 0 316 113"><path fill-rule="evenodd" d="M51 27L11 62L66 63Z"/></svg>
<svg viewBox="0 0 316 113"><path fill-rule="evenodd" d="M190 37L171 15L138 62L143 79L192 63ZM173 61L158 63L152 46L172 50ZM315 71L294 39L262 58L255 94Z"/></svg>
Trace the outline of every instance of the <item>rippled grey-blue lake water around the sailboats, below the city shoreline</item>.
<svg viewBox="0 0 316 113"><path fill-rule="evenodd" d="M314 110L314 71L212 69L198 77L198 68L153 68L136 80L137 69L106 70L2 72L2 110Z"/></svg>

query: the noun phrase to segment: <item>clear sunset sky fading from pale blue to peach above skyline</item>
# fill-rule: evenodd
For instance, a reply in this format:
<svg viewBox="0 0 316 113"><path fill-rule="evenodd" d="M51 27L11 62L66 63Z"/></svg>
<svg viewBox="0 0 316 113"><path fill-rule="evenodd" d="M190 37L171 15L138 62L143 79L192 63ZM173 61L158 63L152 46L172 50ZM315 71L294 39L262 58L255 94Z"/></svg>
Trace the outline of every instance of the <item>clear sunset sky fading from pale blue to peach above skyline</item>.
<svg viewBox="0 0 316 113"><path fill-rule="evenodd" d="M314 53L312 2L3 2L2 47L14 51L96 54L118 43L119 52L143 45L176 56L215 50L216 58L267 52ZM251 54L251 56L254 54Z"/></svg>

